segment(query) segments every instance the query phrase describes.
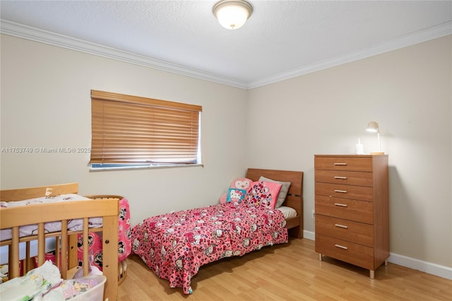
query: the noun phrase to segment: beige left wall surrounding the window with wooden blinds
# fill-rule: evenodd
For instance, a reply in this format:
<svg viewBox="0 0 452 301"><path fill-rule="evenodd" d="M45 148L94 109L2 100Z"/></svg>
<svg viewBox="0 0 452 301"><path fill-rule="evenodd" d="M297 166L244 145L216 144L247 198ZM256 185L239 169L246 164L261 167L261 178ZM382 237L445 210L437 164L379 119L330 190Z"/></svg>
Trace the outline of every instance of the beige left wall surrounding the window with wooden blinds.
<svg viewBox="0 0 452 301"><path fill-rule="evenodd" d="M204 167L90 172L85 153L1 153L1 189L78 182L120 194L132 223L218 202L245 172L246 90L1 35L1 147L90 147L90 90L203 106Z"/></svg>

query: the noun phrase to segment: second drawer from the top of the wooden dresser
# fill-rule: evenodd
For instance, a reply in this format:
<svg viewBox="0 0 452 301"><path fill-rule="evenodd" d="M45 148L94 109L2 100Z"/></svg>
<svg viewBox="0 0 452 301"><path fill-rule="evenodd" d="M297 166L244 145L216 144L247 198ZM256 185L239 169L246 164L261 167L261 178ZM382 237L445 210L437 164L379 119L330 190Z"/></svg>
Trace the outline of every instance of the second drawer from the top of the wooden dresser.
<svg viewBox="0 0 452 301"><path fill-rule="evenodd" d="M345 170L316 170L316 182L372 187L371 172L349 172Z"/></svg>

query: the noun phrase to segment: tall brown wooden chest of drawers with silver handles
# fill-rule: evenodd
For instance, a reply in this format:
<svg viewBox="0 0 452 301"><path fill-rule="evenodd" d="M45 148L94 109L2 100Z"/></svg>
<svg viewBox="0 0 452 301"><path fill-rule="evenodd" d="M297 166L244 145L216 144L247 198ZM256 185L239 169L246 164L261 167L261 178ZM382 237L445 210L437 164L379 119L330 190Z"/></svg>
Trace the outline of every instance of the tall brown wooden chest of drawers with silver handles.
<svg viewBox="0 0 452 301"><path fill-rule="evenodd" d="M388 155L314 155L316 252L370 271L389 256Z"/></svg>

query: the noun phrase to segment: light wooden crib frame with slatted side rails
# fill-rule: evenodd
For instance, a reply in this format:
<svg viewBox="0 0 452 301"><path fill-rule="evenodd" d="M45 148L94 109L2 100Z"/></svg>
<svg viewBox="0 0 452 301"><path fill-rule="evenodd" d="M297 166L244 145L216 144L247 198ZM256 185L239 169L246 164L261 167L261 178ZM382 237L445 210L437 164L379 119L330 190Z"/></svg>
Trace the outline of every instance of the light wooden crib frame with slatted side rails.
<svg viewBox="0 0 452 301"><path fill-rule="evenodd" d="M0 201L20 201L40 197L77 194L78 184L59 184L44 187L8 189L0 191ZM88 233L102 231L103 275L105 282L105 300L117 300L119 281L118 264L118 198L88 199L82 201L62 201L57 203L33 203L30 206L7 207L0 209L0 229L11 228L11 239L1 240L1 246L8 246L8 278L20 276L32 268L42 266L45 262L45 240L55 237L57 266L61 277L69 279L76 273L77 248L70 241L77 240L83 234L83 262L88 263ZM89 228L90 219L102 218L101 228ZM73 220L81 220L81 230L68 230ZM44 228L52 222L61 223L61 230L47 232ZM20 235L20 228L26 225L37 225L37 233ZM73 229L73 228L70 228ZM37 256L30 256L30 242L37 240ZM25 243L25 259L20 260L20 243ZM61 247L60 247L61 246ZM20 266L20 263L23 266ZM83 275L88 275L88 265L83 265Z"/></svg>

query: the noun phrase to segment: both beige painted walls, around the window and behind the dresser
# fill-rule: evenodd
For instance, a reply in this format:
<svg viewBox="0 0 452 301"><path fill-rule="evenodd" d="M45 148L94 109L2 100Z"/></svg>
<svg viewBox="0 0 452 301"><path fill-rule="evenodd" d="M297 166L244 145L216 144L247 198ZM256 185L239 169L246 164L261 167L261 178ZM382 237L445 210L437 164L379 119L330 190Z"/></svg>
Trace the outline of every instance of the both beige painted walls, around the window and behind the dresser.
<svg viewBox="0 0 452 301"><path fill-rule="evenodd" d="M304 170L314 232L314 154L353 153L379 122L389 154L391 252L452 267L451 37L241 90L1 35L1 147L89 147L90 90L203 106L204 167L89 172L86 154L1 153L1 189L79 182L123 194L133 225L218 200L246 167Z"/></svg>

